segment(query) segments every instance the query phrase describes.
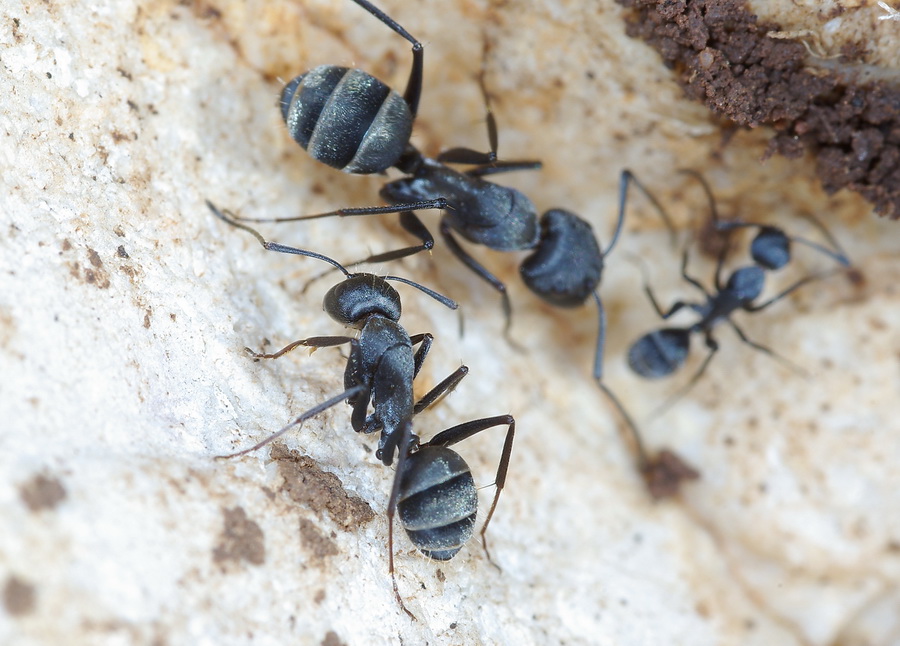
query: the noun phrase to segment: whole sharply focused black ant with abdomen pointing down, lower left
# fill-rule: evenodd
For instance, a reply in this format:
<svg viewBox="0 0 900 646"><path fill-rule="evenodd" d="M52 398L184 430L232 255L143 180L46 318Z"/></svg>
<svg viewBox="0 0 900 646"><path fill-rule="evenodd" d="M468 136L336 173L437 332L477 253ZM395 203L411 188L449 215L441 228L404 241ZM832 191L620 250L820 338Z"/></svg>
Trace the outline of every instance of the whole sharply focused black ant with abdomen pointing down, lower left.
<svg viewBox="0 0 900 646"><path fill-rule="evenodd" d="M481 528L482 545L490 560L485 532L506 482L515 419L511 415L500 415L464 422L438 433L429 442L420 443L412 431L413 417L455 388L469 369L460 366L419 401L414 401L413 380L422 368L433 337L427 333L410 336L399 324L400 295L387 281L411 285L451 309L456 309L457 304L397 276L382 278L373 274L351 274L340 263L322 254L268 242L254 229L236 221L229 212L220 211L209 201L207 206L222 221L251 233L267 250L316 258L340 270L346 280L327 292L324 309L335 321L360 330L358 338L310 337L272 354L252 353L254 358L275 359L300 346L324 348L349 343L345 390L302 413L249 449L219 457L231 458L255 451L306 420L347 401L353 408L350 418L353 430L361 433L381 431L376 452L378 459L390 466L395 452L399 455L387 508L389 570L397 601L406 614L415 619L400 598L394 575L394 512L399 512L403 528L419 551L436 560L452 558L472 536L478 496L465 460L448 447L481 431L505 425L506 440L494 483L496 493ZM418 344L421 345L414 353L413 346ZM370 402L374 412L368 415Z"/></svg>

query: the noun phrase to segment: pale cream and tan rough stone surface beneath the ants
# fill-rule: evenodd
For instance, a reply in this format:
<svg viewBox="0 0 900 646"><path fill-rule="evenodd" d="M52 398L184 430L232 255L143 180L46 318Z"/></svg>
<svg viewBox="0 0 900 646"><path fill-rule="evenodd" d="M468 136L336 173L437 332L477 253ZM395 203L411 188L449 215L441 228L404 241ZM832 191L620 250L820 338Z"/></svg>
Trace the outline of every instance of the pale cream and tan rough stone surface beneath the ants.
<svg viewBox="0 0 900 646"><path fill-rule="evenodd" d="M415 141L431 152L484 147L473 77L486 35L501 154L545 162L540 173L504 181L542 209L583 214L604 245L624 166L684 227L699 223L706 204L675 172L682 166L706 174L723 215L807 235L794 216L819 215L856 261L856 280L821 282L741 318L752 339L810 377L723 329L706 378L650 419L688 373L654 384L627 374L628 344L659 325L627 253L651 264L662 300L693 294L677 276L677 251L635 195L602 288L609 383L651 447L677 450L702 473L680 500L653 504L588 378L590 308L538 303L517 280L517 258L479 250L512 287L514 333L527 348L519 353L502 340L495 294L442 245L432 258L392 266L465 306L460 339L455 315L403 291L404 325L436 336L418 391L461 361L471 368L417 430L430 437L506 412L519 424L489 530L502 572L477 541L437 564L397 535L398 583L413 622L387 574L383 510L393 472L375 459L373 438L349 430L346 407L285 435L285 450L333 474L339 486L327 490L363 501L371 520L363 505L356 515L323 513L322 498L295 495L286 482L293 467L269 451L213 459L342 387L337 351L254 362L245 346L343 330L321 312L326 285L300 293L318 265L264 252L203 204L263 216L377 203L382 180L321 167L287 137L276 79L331 62L402 87L408 44L346 1L6 3L0 643L898 641L893 223L873 218L856 195L825 196L812 160L760 164L761 133L739 132L724 145L658 57L625 35L611 1L384 7L426 43ZM399 246L395 222L265 232L347 259ZM768 289L823 265L798 250ZM706 279L712 267L698 254L692 271ZM501 435L458 447L485 485L483 508ZM53 504L33 509L29 500L49 498L25 496L23 486L39 478L64 497L56 490ZM252 558L217 562L229 536L243 546L229 554Z"/></svg>

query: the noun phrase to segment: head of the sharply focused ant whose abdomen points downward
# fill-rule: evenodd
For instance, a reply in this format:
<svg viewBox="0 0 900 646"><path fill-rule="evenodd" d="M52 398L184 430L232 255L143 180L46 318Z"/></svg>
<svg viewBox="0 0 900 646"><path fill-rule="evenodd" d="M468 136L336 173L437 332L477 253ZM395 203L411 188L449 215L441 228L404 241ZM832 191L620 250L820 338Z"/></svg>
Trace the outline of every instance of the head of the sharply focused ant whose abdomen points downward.
<svg viewBox="0 0 900 646"><path fill-rule="evenodd" d="M400 319L400 294L374 274L352 274L325 294L323 307L338 323L362 327L368 317Z"/></svg>

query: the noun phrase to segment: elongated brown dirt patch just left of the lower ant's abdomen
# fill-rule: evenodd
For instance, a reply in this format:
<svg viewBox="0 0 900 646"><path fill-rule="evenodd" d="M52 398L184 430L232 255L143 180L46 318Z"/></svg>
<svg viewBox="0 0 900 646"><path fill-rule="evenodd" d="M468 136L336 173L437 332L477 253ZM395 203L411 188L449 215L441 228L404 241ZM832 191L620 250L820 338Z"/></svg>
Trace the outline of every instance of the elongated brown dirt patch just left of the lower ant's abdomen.
<svg viewBox="0 0 900 646"><path fill-rule="evenodd" d="M320 517L327 511L345 531L370 522L375 513L369 504L344 489L338 477L322 471L313 460L282 444L272 447L272 459L284 478L281 491Z"/></svg>

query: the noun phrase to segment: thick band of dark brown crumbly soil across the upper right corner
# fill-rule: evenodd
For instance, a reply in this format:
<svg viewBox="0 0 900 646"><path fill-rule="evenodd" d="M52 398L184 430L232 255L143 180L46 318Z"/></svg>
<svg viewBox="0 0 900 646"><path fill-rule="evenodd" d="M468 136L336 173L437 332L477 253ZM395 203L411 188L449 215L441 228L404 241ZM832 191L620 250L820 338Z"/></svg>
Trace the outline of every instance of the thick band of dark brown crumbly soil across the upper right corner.
<svg viewBox="0 0 900 646"><path fill-rule="evenodd" d="M827 192L848 188L900 219L900 86L812 70L803 44L767 37L781 28L743 0L616 1L632 9L628 35L660 53L689 97L742 127L773 128L770 154L809 149Z"/></svg>

